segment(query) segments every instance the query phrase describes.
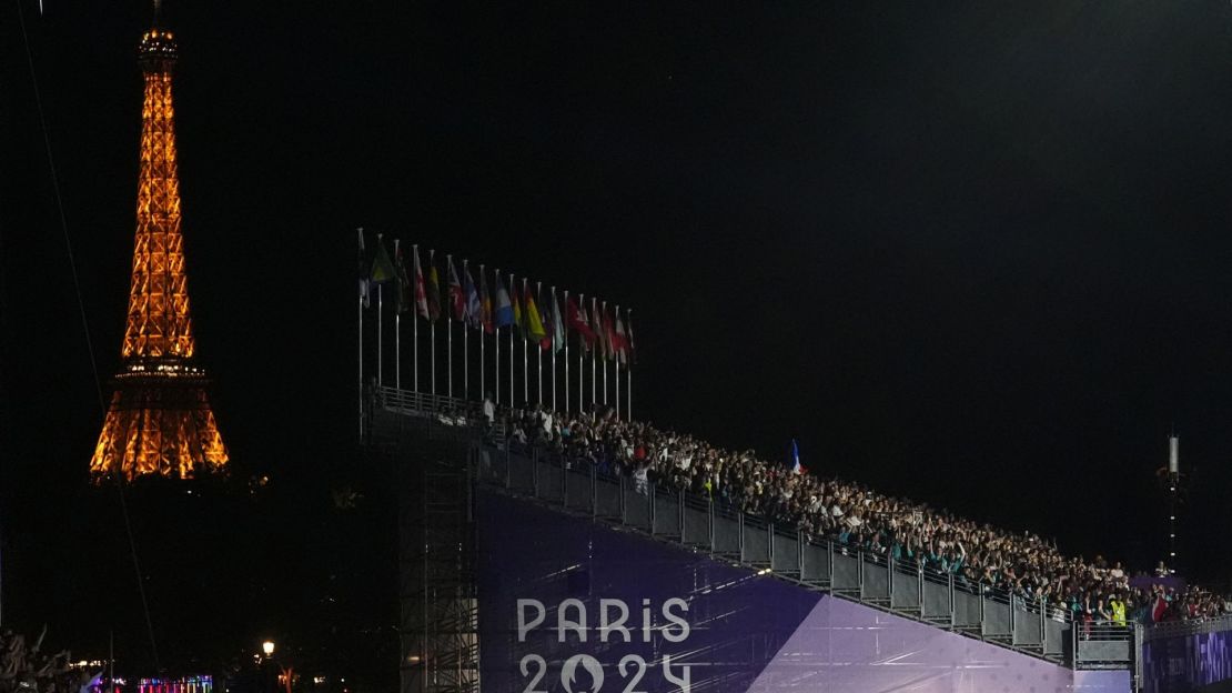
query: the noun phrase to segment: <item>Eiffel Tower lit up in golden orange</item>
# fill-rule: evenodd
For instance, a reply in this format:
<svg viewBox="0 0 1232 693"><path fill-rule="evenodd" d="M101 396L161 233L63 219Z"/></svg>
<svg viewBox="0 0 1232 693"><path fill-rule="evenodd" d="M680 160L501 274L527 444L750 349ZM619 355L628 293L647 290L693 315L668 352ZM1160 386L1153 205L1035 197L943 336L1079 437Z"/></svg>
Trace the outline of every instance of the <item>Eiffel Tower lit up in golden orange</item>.
<svg viewBox="0 0 1232 693"><path fill-rule="evenodd" d="M190 478L227 465L208 380L193 361L171 106L176 44L158 26L158 5L138 52L145 102L133 277L123 366L90 460L96 482L113 474L129 481L144 475Z"/></svg>

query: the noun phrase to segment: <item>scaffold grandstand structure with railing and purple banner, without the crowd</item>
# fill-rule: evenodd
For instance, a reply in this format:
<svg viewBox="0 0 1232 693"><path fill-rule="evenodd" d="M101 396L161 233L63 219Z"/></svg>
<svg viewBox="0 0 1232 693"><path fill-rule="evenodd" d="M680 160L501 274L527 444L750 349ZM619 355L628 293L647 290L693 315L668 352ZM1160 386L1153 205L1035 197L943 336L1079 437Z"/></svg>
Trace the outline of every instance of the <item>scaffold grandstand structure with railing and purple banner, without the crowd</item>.
<svg viewBox="0 0 1232 693"><path fill-rule="evenodd" d="M1232 691L1232 625L1078 629L376 388L404 693ZM451 412L448 417L439 412ZM474 419L471 419L474 420Z"/></svg>

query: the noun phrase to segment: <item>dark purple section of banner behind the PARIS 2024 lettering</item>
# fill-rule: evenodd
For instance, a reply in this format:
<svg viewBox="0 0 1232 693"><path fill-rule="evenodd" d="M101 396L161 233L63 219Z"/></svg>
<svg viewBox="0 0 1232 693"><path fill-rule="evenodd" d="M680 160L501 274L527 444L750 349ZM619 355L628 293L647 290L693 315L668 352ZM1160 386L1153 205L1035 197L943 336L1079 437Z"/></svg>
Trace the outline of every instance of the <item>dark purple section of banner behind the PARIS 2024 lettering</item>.
<svg viewBox="0 0 1232 693"><path fill-rule="evenodd" d="M638 663L622 673L620 661L641 657L647 668L634 691L658 693L680 688L663 672L664 656L671 672L689 667L695 691L743 693L761 667L796 631L822 598L747 568L711 560L706 554L657 543L646 536L617 531L600 523L569 518L558 512L480 492L477 498L479 547L480 668L485 692L522 692L546 662L546 673L535 691L594 692L593 657L602 668L602 693L621 693L637 676ZM585 607L586 642L556 629L564 599ZM684 599L689 635L671 642L659 629L668 599ZM535 599L545 608L545 621L519 639L517 599ZM632 642L616 631L602 641L599 631L601 599L618 601L630 612ZM644 641L642 609L649 601L650 634ZM618 608L609 607L612 620ZM525 620L537 615L526 607ZM578 620L579 610L567 610ZM679 628L669 630L679 633ZM570 665L570 660L573 663ZM529 673L524 676L522 662ZM572 676L570 676L572 673ZM569 684L565 684L569 679Z"/></svg>

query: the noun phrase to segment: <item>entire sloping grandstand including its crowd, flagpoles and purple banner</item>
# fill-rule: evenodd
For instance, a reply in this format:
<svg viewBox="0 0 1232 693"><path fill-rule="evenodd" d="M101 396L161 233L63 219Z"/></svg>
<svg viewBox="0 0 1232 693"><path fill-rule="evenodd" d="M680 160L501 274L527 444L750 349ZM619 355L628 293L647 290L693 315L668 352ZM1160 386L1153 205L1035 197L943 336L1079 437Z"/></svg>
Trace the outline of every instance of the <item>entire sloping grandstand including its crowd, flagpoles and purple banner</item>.
<svg viewBox="0 0 1232 693"><path fill-rule="evenodd" d="M419 276L418 254L413 266ZM467 369L477 366L478 392L487 392L487 323L468 306L489 301L469 277L460 286L471 287L453 291L460 390L472 392ZM540 334L549 321L520 333L504 324L505 406L451 396L460 364L447 317L448 393L397 386L399 327L389 387L379 297L368 340L376 358L362 348L368 291L361 280L360 427L367 450L398 474L403 691L1164 692L1232 678L1223 672L1232 624L1211 593L1175 589L1170 578L1161 581L1167 587L1131 584L1120 564L1064 556L1030 533L632 419L632 371L622 381L620 367L631 338L588 348L585 318L556 307L554 292L545 314L559 339ZM432 295L430 282L416 287L415 303L439 300ZM526 292L524 306L533 305ZM419 312L431 329L420 344L411 316L408 380L418 386L418 354L429 353L435 390L437 324L431 311ZM569 329L562 316L570 316ZM575 323L570 383L564 337ZM593 335L617 333L606 316L589 324ZM499 349L505 333L494 327L488 335ZM478 359L467 351L468 328ZM616 366L612 406L605 361ZM365 377L366 363L375 376ZM503 363L498 351L498 401ZM568 413L573 387L584 413ZM558 392L565 411L551 409Z"/></svg>

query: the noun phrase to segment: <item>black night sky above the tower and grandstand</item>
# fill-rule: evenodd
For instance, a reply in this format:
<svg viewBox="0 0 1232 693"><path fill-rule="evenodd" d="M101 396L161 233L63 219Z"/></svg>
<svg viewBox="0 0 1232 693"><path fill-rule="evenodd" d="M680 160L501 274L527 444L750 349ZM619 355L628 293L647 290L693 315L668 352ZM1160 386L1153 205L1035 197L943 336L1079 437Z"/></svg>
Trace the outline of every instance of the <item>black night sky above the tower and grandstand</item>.
<svg viewBox="0 0 1232 693"><path fill-rule="evenodd" d="M150 12L79 5L22 0L106 376ZM1175 425L1188 567L1226 582L1232 7L971 5L169 1L237 465L293 487L354 453L365 226L634 307L639 417L766 455L796 435L814 471L1088 557L1159 557ZM32 603L101 418L2 12L0 520Z"/></svg>

